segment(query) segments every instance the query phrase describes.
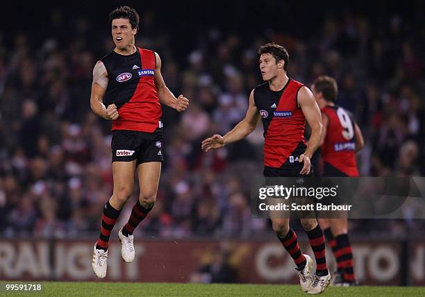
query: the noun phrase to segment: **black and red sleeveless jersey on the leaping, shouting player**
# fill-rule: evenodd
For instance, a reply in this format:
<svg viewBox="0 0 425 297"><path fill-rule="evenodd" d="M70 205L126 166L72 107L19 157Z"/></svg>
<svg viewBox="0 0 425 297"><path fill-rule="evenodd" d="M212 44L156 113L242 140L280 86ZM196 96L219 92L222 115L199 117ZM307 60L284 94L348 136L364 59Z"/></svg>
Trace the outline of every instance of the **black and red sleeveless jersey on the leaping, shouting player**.
<svg viewBox="0 0 425 297"><path fill-rule="evenodd" d="M112 130L135 130L147 133L162 126L162 110L155 85L155 52L138 48L124 56L110 52L101 59L108 71L108 88L103 104L117 105L119 117Z"/></svg>

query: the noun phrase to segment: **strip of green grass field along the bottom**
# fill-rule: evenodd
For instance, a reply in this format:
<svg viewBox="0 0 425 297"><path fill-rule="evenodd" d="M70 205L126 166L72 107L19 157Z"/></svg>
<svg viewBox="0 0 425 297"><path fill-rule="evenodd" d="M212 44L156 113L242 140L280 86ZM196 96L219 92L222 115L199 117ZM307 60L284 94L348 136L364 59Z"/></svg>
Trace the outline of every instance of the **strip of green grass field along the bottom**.
<svg viewBox="0 0 425 297"><path fill-rule="evenodd" d="M42 291L6 291L0 296L308 296L297 285L197 285L135 282L42 282ZM425 296L425 287L328 287L323 296Z"/></svg>

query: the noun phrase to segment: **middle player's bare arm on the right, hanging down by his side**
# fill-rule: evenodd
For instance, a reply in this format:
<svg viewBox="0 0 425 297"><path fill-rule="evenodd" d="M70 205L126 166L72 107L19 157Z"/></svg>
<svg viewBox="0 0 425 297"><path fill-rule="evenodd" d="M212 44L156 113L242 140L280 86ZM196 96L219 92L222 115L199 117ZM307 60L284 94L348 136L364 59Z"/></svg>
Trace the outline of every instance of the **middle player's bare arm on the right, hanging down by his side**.
<svg viewBox="0 0 425 297"><path fill-rule="evenodd" d="M310 139L306 151L299 156L299 162L304 162L300 174L308 174L311 169L311 157L317 150L322 136L322 115L319 105L315 101L313 93L307 87L301 87L298 92L298 104L303 111L304 117L311 128Z"/></svg>

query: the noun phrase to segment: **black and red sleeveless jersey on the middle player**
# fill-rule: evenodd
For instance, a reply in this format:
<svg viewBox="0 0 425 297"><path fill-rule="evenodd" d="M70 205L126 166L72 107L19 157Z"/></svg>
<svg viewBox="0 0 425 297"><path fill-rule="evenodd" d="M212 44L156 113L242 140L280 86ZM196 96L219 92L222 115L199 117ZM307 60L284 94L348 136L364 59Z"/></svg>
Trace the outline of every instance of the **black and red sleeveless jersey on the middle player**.
<svg viewBox="0 0 425 297"><path fill-rule="evenodd" d="M265 167L299 164L299 155L306 151L306 118L297 103L301 87L302 83L290 78L280 91L270 90L269 83L254 89L254 102L264 127Z"/></svg>

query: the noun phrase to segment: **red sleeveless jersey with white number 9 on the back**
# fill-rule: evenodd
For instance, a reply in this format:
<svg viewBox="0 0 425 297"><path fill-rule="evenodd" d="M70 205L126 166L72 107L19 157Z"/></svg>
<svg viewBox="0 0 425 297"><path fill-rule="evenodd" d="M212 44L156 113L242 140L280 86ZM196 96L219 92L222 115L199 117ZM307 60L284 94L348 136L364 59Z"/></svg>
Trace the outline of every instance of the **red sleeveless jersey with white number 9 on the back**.
<svg viewBox="0 0 425 297"><path fill-rule="evenodd" d="M347 176L358 176L353 117L337 105L326 106L322 112L329 120L322 144L323 161Z"/></svg>

